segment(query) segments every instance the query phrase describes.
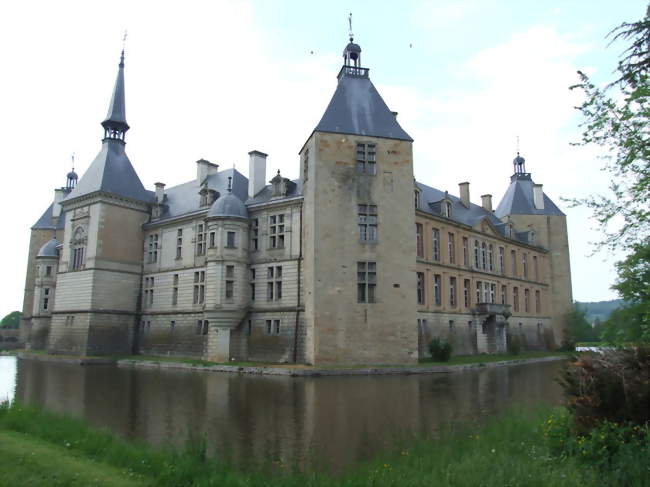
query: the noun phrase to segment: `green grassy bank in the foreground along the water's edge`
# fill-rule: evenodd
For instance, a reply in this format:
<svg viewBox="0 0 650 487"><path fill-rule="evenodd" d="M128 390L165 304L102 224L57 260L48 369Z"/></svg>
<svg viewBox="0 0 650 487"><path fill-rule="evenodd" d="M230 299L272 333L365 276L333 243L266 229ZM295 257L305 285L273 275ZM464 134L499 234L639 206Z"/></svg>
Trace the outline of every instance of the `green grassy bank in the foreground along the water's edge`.
<svg viewBox="0 0 650 487"><path fill-rule="evenodd" d="M650 485L644 476L621 483L626 465L606 470L550 456L541 425L548 411L518 413L480 430L414 440L337 474L298 473L271 464L242 471L205 457L204 448L160 451L117 439L83 422L20 405L0 407L0 485L97 486L602 486ZM628 475L629 477L629 475Z"/></svg>

